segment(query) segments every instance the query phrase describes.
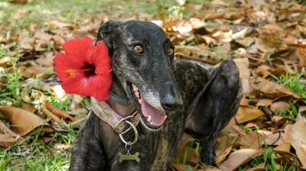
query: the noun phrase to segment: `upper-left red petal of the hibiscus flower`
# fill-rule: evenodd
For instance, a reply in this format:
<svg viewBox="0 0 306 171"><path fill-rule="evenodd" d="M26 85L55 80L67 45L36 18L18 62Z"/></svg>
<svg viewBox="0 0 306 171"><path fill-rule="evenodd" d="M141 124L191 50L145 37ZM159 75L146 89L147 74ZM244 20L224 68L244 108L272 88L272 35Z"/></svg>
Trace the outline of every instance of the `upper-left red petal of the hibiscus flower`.
<svg viewBox="0 0 306 171"><path fill-rule="evenodd" d="M87 36L81 39L71 39L62 44L65 54L70 60L80 62L82 64L89 63L90 56L95 50L93 40Z"/></svg>

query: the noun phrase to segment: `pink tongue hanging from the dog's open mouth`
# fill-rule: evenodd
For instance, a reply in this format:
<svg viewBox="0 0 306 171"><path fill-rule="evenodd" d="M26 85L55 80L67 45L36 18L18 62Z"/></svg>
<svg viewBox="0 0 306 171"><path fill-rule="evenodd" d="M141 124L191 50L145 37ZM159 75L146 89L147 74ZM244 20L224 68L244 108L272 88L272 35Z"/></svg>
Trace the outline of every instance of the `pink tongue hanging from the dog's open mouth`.
<svg viewBox="0 0 306 171"><path fill-rule="evenodd" d="M163 124L166 119L166 113L164 110L152 107L143 98L141 101L141 112L145 117L151 115L151 122L157 126Z"/></svg>

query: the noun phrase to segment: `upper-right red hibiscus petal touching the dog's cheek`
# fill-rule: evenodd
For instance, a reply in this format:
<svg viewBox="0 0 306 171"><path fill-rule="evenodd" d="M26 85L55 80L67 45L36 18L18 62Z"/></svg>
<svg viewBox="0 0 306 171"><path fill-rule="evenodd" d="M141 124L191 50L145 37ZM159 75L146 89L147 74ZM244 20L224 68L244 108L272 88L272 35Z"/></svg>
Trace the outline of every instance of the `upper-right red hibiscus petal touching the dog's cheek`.
<svg viewBox="0 0 306 171"><path fill-rule="evenodd" d="M97 47L90 57L90 64L94 64L96 74L109 73L112 70L112 59L109 49L103 41L97 42Z"/></svg>

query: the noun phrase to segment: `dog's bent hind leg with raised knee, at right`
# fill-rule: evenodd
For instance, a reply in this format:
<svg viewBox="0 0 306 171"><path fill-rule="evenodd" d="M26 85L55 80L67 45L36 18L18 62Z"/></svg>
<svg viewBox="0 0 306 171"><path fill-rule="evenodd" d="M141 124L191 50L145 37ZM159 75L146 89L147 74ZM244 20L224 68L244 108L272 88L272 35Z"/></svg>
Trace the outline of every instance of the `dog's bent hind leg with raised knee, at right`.
<svg viewBox="0 0 306 171"><path fill-rule="evenodd" d="M206 164L217 166L214 158L217 136L237 113L241 98L238 68L233 60L225 60L212 72L189 108L186 131L208 136L200 154Z"/></svg>

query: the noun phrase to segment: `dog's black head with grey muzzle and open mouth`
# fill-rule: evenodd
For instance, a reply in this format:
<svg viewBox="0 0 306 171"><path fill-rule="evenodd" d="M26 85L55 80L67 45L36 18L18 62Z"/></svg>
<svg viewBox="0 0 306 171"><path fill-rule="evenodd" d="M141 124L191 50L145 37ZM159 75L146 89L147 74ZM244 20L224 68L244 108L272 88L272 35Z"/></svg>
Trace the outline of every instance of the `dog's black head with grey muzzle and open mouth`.
<svg viewBox="0 0 306 171"><path fill-rule="evenodd" d="M165 111L183 104L171 72L173 44L158 25L142 21L108 21L98 29L97 41L101 40L109 48L114 74L137 106L142 123L159 129Z"/></svg>

